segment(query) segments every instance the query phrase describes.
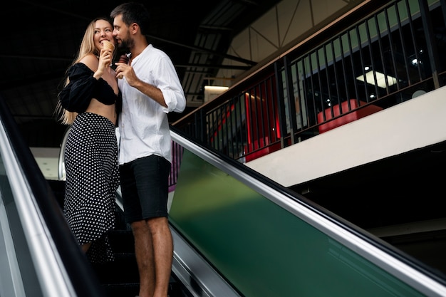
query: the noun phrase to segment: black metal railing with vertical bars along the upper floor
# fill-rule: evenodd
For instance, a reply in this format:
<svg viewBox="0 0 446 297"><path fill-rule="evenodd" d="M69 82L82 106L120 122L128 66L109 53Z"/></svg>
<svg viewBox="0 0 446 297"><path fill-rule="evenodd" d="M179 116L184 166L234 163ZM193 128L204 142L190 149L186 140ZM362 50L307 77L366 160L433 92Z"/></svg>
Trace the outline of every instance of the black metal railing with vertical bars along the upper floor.
<svg viewBox="0 0 446 297"><path fill-rule="evenodd" d="M358 9L173 125L247 162L440 88L445 7Z"/></svg>

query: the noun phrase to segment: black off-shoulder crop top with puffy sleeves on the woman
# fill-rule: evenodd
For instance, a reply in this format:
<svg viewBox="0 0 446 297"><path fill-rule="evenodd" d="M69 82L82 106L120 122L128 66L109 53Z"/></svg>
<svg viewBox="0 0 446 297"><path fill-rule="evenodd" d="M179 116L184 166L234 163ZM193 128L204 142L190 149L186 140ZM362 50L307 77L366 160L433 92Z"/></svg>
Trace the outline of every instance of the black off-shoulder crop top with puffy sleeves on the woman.
<svg viewBox="0 0 446 297"><path fill-rule="evenodd" d="M116 103L120 112L122 96L115 94L113 88L103 79L93 78L94 72L84 63L76 63L68 68L70 83L58 94L61 105L68 111L83 113L87 110L92 98L105 105Z"/></svg>

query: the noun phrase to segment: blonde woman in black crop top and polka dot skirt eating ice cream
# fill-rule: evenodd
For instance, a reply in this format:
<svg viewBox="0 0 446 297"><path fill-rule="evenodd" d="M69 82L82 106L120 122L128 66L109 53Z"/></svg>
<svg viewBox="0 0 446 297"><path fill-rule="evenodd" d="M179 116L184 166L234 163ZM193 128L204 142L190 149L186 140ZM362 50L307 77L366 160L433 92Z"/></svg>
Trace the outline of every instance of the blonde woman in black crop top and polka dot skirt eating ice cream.
<svg viewBox="0 0 446 297"><path fill-rule="evenodd" d="M115 224L118 144L115 127L121 95L110 68L115 44L108 19L88 25L77 58L58 94L63 124L71 125L65 149L66 192L63 213L91 262L113 260L107 232Z"/></svg>

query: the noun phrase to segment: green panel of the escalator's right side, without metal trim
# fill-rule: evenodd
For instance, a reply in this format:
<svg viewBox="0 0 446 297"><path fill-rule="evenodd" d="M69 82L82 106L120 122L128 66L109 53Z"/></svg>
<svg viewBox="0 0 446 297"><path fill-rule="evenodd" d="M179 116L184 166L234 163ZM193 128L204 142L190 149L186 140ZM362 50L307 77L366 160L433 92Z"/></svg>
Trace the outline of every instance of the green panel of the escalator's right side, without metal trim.
<svg viewBox="0 0 446 297"><path fill-rule="evenodd" d="M243 296L424 296L185 150L170 222Z"/></svg>

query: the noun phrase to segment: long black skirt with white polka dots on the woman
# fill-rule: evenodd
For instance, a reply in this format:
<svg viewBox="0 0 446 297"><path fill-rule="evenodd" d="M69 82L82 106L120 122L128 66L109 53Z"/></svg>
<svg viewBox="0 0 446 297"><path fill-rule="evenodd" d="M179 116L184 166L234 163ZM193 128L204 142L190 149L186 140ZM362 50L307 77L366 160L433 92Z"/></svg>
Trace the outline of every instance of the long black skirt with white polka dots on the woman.
<svg viewBox="0 0 446 297"><path fill-rule="evenodd" d="M65 149L63 212L79 244L91 242L91 262L113 261L107 232L115 226L119 184L115 125L94 113L78 115Z"/></svg>

